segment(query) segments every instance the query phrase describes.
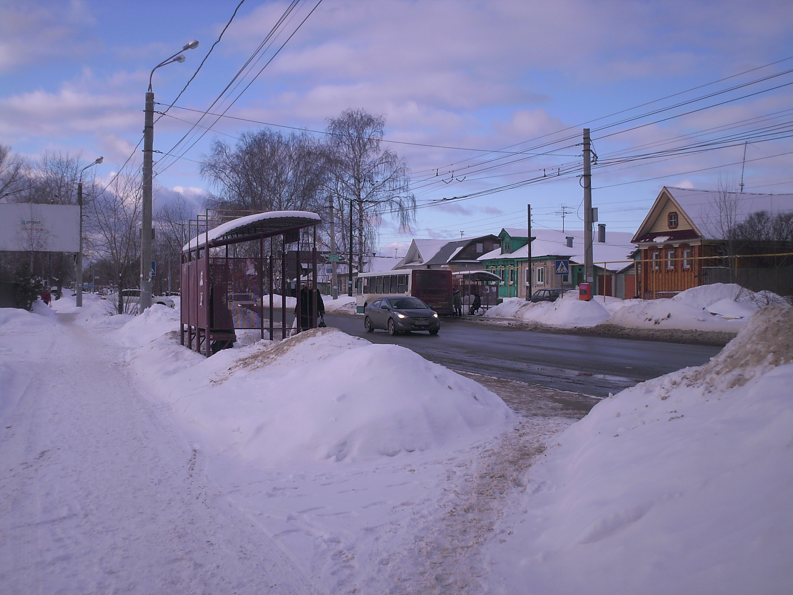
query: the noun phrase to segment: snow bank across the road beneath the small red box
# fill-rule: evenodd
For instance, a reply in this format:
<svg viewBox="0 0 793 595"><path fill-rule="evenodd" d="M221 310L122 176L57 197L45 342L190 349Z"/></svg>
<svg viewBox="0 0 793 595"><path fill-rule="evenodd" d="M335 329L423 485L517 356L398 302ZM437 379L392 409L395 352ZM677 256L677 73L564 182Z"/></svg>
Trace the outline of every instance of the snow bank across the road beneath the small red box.
<svg viewBox="0 0 793 595"><path fill-rule="evenodd" d="M573 298L568 298L572 296ZM508 298L501 304L488 309L485 316L515 318L519 321L538 322L558 327L595 326L609 317L607 309L599 301L579 300L576 292L568 292L557 301L526 301L523 298Z"/></svg>

